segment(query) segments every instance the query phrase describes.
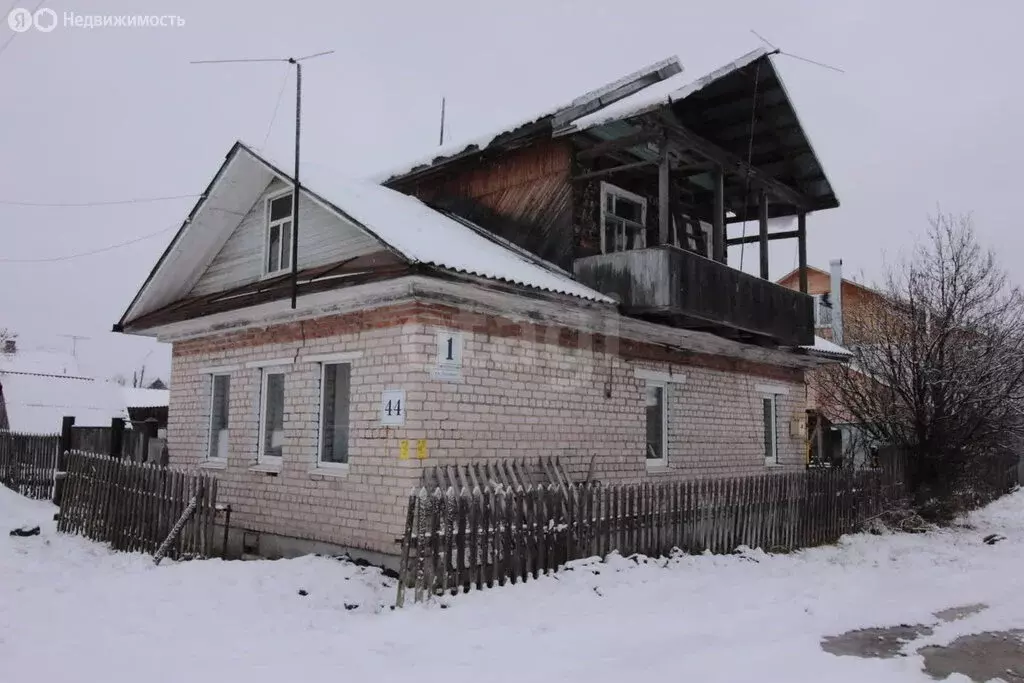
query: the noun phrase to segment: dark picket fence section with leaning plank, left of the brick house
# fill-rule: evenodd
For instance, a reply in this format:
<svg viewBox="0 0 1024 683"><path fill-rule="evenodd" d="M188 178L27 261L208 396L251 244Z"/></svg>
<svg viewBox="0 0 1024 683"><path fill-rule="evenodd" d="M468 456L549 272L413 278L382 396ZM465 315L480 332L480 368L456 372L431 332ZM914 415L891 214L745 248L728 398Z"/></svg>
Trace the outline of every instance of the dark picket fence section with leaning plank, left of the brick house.
<svg viewBox="0 0 1024 683"><path fill-rule="evenodd" d="M63 486L58 531L105 542L115 550L156 553L195 500L195 513L168 556L213 554L217 480L212 476L72 451Z"/></svg>

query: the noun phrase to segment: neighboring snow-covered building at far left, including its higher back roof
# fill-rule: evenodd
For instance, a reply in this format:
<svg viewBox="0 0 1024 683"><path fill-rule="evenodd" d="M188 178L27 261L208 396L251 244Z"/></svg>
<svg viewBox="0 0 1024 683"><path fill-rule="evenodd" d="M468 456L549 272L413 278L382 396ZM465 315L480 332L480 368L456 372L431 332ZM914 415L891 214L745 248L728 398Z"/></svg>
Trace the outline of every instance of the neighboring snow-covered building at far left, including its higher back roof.
<svg viewBox="0 0 1024 683"><path fill-rule="evenodd" d="M66 416L85 427L110 427L127 418L121 387L79 375L70 354L20 351L11 343L0 353L0 429L56 434Z"/></svg>

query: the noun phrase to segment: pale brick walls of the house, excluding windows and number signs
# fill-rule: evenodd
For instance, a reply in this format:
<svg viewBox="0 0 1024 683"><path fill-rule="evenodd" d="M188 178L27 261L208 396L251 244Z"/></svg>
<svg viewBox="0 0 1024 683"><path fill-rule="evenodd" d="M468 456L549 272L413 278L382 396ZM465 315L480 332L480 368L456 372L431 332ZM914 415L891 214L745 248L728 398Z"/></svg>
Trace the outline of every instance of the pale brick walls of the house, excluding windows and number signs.
<svg viewBox="0 0 1024 683"><path fill-rule="evenodd" d="M461 330L458 380L435 379L438 330ZM351 360L349 466L316 467L319 362ZM264 372L288 359L282 469L254 471ZM295 362L291 360L295 359ZM613 337L463 315L424 304L289 324L174 345L168 437L171 463L198 466L208 449L211 377L229 367L229 437L220 498L232 525L394 553L404 503L424 464L558 455L575 475L605 481L739 476L765 470L761 396L778 398L780 467L803 465L790 435L803 419L803 375L792 369L707 354L671 352ZM637 371L670 374L667 467L648 471L645 383ZM404 388L407 421L381 427L381 391ZM399 460L401 439L426 439L428 458ZM415 441L414 441L415 443Z"/></svg>

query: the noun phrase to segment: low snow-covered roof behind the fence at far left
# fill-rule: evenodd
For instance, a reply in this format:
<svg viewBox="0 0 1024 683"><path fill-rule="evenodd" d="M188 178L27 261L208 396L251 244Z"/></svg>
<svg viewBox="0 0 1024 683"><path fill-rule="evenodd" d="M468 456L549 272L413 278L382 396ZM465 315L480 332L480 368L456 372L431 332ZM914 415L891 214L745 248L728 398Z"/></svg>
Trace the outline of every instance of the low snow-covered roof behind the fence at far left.
<svg viewBox="0 0 1024 683"><path fill-rule="evenodd" d="M122 387L87 377L0 372L7 423L11 431L53 434L65 416L75 424L109 427L128 419Z"/></svg>

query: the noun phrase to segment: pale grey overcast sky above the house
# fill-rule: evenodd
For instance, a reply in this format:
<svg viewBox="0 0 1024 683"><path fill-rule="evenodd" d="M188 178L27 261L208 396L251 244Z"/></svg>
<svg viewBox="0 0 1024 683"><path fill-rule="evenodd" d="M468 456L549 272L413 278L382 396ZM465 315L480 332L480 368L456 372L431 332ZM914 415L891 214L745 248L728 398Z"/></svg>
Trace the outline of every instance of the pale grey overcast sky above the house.
<svg viewBox="0 0 1024 683"><path fill-rule="evenodd" d="M29 8L37 0L15 5ZM182 28L60 26L78 14L175 14ZM1024 4L757 0L485 0L266 3L176 0L44 2L51 33L17 34L0 53L0 327L105 335L194 200L104 207L25 207L193 195L236 139L290 158L288 67L193 66L333 49L304 69L303 160L368 176L436 144L439 99L450 139L501 128L646 63L678 54L696 78L761 45L780 70L840 198L808 219L809 260L844 259L870 282L937 206L972 212L1014 279L1024 142L1017 85ZM0 24L0 46L11 36ZM268 132L269 131L269 132ZM131 246L91 251L164 229ZM737 228L733 228L737 229ZM775 243L773 276L796 265ZM730 254L736 263L738 252ZM748 247L746 270L757 267ZM104 336L105 335L105 336ZM111 348L130 375L143 344ZM121 350L124 349L124 350ZM150 355L150 375L167 364Z"/></svg>

